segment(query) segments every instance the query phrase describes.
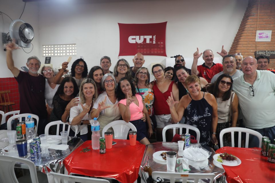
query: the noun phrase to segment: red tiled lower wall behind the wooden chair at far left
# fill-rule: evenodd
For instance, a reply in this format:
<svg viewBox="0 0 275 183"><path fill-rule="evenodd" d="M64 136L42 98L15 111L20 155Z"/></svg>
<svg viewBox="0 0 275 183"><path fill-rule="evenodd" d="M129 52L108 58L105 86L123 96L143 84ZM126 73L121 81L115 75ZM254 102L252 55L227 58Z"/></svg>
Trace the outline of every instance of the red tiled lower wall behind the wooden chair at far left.
<svg viewBox="0 0 275 183"><path fill-rule="evenodd" d="M9 101L15 103L15 105L12 106L13 111L20 110L18 83L14 77L0 78L0 91L6 90L11 91L11 93L9 93Z"/></svg>

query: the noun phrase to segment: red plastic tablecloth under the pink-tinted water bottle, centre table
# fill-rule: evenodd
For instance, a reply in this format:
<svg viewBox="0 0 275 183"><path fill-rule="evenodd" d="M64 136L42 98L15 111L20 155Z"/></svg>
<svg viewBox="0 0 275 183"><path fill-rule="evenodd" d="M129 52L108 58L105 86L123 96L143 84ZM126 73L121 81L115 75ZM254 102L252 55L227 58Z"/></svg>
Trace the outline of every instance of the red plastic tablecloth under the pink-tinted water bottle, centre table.
<svg viewBox="0 0 275 183"><path fill-rule="evenodd" d="M130 146L129 140L113 141L117 144L111 149L106 149L105 154L93 150L91 140L84 142L64 159L68 173L115 178L125 183L134 182L138 177L145 145L137 142L135 146ZM91 151L80 152L87 147Z"/></svg>

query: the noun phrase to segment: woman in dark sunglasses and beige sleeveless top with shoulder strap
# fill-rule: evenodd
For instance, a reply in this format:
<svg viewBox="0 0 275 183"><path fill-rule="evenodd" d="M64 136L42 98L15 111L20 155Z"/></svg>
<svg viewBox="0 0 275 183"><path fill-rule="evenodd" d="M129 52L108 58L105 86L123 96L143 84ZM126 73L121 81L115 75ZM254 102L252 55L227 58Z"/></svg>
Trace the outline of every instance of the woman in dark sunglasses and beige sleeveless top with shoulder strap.
<svg viewBox="0 0 275 183"><path fill-rule="evenodd" d="M232 121L231 127L236 127L238 120L238 96L232 91L233 79L229 74L222 74L215 83L207 87L209 93L213 94L218 104L218 125L216 137L219 139L221 130L229 128L229 121ZM223 136L224 146L229 146L228 136Z"/></svg>

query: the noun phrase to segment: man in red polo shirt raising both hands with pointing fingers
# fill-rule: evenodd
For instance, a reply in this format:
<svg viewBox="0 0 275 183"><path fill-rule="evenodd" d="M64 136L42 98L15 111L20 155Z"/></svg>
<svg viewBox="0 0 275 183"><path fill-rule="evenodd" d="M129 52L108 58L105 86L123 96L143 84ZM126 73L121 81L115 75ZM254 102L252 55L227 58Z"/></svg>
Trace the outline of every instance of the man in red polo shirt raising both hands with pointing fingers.
<svg viewBox="0 0 275 183"><path fill-rule="evenodd" d="M227 51L225 49L221 50L221 53L217 52L219 55L224 57L227 55ZM198 59L203 54L203 60L205 63L203 65L198 65ZM223 71L223 65L221 63L214 63L214 54L211 49L205 50L203 53L199 53L199 49L197 48L197 51L193 54L194 60L191 68L191 73L193 75L199 75L200 77L205 78L208 83L211 82L212 77Z"/></svg>

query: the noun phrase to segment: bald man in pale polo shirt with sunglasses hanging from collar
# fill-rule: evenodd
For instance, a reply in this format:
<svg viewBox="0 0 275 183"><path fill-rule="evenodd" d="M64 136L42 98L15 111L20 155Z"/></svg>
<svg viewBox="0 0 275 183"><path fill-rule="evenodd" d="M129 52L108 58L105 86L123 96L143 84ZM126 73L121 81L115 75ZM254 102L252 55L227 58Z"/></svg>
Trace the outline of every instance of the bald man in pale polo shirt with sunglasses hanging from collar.
<svg viewBox="0 0 275 183"><path fill-rule="evenodd" d="M275 138L275 75L270 71L256 70L257 60L243 59L243 75L233 79L233 90L239 98L243 113L243 125L260 132L262 136ZM249 147L258 147L256 136L250 136Z"/></svg>

